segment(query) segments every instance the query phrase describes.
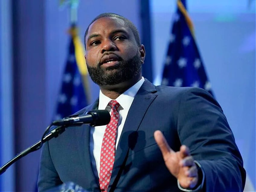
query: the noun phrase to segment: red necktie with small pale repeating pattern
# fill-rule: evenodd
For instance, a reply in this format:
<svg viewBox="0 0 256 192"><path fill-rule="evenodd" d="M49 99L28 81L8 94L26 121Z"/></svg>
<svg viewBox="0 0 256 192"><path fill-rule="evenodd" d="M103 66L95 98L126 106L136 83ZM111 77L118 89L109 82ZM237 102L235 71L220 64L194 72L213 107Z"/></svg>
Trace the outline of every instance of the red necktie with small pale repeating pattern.
<svg viewBox="0 0 256 192"><path fill-rule="evenodd" d="M116 135L119 120L118 107L120 104L111 100L108 105L111 107L111 118L107 124L101 145L101 162L99 183L101 191L107 191L109 185L116 152Z"/></svg>

